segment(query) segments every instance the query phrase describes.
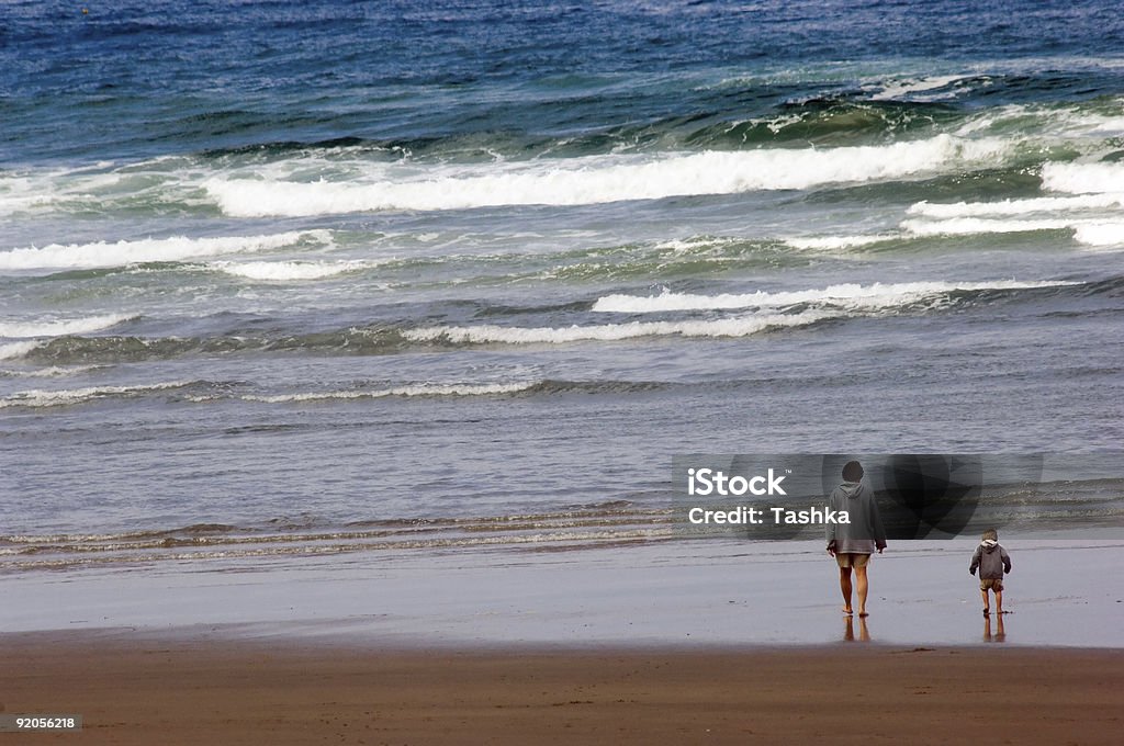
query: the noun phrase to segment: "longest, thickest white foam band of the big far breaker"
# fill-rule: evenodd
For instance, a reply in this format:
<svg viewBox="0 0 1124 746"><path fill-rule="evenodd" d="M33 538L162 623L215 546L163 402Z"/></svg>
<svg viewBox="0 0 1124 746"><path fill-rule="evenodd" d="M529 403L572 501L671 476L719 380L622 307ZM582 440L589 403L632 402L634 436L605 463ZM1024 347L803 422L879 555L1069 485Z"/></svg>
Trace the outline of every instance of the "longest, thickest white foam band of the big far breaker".
<svg viewBox="0 0 1124 746"><path fill-rule="evenodd" d="M690 194L807 189L900 179L987 158L1003 140L950 135L882 146L774 148L652 156L588 156L487 166L443 166L356 183L223 180L205 183L234 217L315 216L378 210L448 210L510 204L595 204Z"/></svg>

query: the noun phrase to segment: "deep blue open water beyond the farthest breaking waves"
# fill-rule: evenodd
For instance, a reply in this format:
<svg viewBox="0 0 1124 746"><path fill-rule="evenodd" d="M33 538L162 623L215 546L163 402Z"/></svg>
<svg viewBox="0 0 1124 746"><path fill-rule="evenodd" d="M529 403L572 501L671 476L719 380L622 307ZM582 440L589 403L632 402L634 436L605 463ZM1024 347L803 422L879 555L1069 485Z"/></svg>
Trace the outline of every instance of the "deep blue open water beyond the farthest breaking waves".
<svg viewBox="0 0 1124 746"><path fill-rule="evenodd" d="M497 4L502 7L497 7ZM6 3L0 162L683 133L887 73L975 106L1120 90L1113 3ZM740 80L743 79L743 80ZM725 83L716 87L716 83ZM936 107L940 111L942 107Z"/></svg>

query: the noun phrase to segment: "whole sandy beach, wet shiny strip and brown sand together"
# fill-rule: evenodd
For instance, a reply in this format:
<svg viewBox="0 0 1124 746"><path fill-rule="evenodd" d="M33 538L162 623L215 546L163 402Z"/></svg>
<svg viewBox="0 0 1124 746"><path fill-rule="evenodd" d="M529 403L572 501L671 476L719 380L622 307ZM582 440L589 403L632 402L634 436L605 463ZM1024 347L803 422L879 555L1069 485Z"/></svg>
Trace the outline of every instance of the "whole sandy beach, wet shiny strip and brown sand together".
<svg viewBox="0 0 1124 746"><path fill-rule="evenodd" d="M794 545L8 577L0 702L106 744L1120 743L1124 595L1079 572L1118 546L1019 544L1001 626L963 548L878 557L869 619Z"/></svg>

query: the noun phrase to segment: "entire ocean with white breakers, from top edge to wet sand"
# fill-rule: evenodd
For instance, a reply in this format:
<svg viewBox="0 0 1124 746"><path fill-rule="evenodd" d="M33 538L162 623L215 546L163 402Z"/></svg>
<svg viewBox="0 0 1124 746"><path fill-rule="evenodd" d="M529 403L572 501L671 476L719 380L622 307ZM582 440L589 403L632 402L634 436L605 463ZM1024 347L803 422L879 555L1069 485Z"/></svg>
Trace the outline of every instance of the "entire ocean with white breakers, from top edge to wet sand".
<svg viewBox="0 0 1124 746"><path fill-rule="evenodd" d="M1122 49L1104 1L4 2L0 573L674 542L688 453L1118 449Z"/></svg>

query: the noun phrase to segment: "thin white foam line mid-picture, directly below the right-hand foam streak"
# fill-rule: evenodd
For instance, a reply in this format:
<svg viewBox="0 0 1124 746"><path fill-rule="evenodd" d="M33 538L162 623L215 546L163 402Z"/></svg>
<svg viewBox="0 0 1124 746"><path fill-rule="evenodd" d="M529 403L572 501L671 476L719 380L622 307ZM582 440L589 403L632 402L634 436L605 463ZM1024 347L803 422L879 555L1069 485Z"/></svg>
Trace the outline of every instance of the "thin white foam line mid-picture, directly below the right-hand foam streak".
<svg viewBox="0 0 1124 746"><path fill-rule="evenodd" d="M552 344L573 342L617 342L638 337L746 337L768 329L807 326L828 318L819 311L795 315L753 315L731 319L706 321L632 321L628 324L602 324L570 327L501 327L492 325L472 327L427 327L404 333L415 342L469 344Z"/></svg>

